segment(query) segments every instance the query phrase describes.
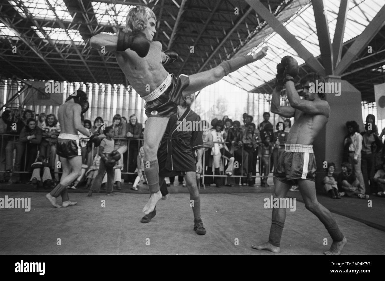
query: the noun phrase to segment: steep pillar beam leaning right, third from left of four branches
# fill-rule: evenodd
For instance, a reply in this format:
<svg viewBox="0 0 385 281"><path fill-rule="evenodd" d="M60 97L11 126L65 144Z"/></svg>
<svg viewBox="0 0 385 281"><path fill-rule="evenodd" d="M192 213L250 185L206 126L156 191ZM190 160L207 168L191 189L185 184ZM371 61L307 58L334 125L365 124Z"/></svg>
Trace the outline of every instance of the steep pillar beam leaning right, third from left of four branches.
<svg viewBox="0 0 385 281"><path fill-rule="evenodd" d="M336 29L333 38L333 64L334 67L341 60L341 53L343 47L343 35L345 34L346 18L348 15L348 4L350 0L341 0L340 10L338 10L338 17Z"/></svg>

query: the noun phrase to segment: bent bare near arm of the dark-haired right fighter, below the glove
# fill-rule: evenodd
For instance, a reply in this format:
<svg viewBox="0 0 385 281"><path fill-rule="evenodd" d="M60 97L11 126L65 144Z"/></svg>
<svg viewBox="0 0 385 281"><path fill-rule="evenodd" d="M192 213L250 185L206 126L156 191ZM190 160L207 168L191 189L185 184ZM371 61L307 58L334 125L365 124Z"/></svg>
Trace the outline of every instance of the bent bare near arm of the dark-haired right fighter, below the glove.
<svg viewBox="0 0 385 281"><path fill-rule="evenodd" d="M301 110L310 115L329 115L329 105L326 101L301 100L300 95L298 95L298 92L295 89L293 81L286 81L285 85L289 103L293 108Z"/></svg>

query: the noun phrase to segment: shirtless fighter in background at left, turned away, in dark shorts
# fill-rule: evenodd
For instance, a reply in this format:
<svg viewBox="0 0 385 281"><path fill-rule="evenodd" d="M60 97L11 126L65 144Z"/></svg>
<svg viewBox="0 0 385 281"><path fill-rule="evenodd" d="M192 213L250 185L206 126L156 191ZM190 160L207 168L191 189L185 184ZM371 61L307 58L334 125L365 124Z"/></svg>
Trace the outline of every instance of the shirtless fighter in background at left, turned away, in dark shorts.
<svg viewBox="0 0 385 281"><path fill-rule="evenodd" d="M82 126L80 115L88 110L89 103L84 91L77 91L59 106L57 113L60 124L60 135L58 136L56 153L62 165L62 178L60 183L45 197L55 208L76 205L77 202L70 201L67 193L67 186L75 181L82 172L82 154L79 142L79 134L91 136L84 126ZM62 196L62 206L56 203L56 198Z"/></svg>

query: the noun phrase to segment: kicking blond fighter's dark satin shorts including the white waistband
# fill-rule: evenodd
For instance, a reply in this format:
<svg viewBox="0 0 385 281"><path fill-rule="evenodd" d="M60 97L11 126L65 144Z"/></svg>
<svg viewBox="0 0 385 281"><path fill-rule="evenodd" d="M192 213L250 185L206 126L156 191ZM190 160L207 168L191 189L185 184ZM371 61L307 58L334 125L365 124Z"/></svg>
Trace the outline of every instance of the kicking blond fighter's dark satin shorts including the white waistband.
<svg viewBox="0 0 385 281"><path fill-rule="evenodd" d="M170 117L176 115L177 106L185 102L182 92L190 84L189 76L181 74L167 75L166 79L154 91L142 97L146 101L147 117Z"/></svg>

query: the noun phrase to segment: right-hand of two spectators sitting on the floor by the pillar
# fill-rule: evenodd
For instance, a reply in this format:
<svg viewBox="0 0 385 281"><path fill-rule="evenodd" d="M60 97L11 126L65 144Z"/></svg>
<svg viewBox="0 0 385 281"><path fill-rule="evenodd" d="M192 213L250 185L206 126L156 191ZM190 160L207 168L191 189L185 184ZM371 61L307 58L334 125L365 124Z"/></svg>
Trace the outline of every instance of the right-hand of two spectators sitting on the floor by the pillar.
<svg viewBox="0 0 385 281"><path fill-rule="evenodd" d="M364 194L365 190L362 188L360 181L357 180L354 173L352 173L352 165L344 162L341 165L342 172L338 175L338 189L342 191L340 196L357 196L361 199L369 199L369 195Z"/></svg>

